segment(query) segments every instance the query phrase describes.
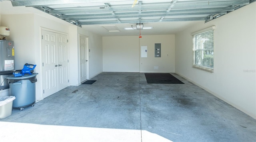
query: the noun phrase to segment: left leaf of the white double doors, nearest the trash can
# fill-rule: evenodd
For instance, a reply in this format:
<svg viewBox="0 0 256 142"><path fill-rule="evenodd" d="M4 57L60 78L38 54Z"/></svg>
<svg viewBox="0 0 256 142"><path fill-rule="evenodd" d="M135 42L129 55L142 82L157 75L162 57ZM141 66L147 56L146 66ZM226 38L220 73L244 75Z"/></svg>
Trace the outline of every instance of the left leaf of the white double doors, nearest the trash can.
<svg viewBox="0 0 256 142"><path fill-rule="evenodd" d="M57 80L57 34L41 30L42 33L42 84L43 97L48 97L58 91Z"/></svg>

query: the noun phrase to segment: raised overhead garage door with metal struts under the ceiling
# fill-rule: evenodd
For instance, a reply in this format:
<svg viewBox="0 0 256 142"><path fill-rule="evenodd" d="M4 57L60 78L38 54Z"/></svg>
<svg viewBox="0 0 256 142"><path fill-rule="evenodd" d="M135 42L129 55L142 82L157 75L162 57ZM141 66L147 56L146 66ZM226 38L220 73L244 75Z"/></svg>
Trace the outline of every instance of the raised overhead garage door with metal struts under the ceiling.
<svg viewBox="0 0 256 142"><path fill-rule="evenodd" d="M92 24L208 22L255 0L12 0L77 26Z"/></svg>

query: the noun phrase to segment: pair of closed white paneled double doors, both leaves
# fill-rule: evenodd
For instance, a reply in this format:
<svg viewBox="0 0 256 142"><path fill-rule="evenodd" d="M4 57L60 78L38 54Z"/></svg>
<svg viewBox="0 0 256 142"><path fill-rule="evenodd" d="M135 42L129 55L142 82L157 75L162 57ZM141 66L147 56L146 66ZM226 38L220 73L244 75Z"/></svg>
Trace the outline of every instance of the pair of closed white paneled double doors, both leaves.
<svg viewBox="0 0 256 142"><path fill-rule="evenodd" d="M68 87L68 36L41 30L43 97Z"/></svg>

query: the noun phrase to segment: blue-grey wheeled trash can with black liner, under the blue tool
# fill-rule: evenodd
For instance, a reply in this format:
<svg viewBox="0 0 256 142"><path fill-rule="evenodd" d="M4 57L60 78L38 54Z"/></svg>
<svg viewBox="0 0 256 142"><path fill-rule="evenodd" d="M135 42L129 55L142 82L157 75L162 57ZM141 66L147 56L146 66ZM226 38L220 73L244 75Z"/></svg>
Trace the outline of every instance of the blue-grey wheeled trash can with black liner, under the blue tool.
<svg viewBox="0 0 256 142"><path fill-rule="evenodd" d="M11 75L7 77L9 84L10 96L15 96L16 99L12 103L12 108L20 108L32 106L36 101L36 75L38 73L32 73L32 75L25 74L21 77L14 77Z"/></svg>

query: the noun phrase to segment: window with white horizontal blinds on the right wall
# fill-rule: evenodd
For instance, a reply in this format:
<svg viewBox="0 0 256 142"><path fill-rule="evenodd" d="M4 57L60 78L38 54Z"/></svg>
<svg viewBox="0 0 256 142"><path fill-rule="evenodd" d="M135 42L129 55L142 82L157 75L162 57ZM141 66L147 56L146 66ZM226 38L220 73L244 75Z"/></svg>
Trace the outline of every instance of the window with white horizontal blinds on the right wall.
<svg viewBox="0 0 256 142"><path fill-rule="evenodd" d="M214 27L215 28L215 27ZM193 67L214 71L214 29L193 35Z"/></svg>

